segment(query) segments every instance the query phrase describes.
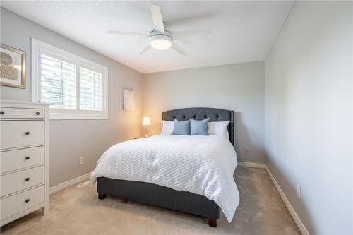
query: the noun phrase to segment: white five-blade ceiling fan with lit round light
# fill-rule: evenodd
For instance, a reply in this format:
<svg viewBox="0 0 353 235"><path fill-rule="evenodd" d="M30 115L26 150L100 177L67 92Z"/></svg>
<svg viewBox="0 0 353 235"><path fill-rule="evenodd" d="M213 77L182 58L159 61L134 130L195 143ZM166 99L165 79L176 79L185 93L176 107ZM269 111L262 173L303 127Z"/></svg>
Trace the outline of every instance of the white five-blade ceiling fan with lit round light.
<svg viewBox="0 0 353 235"><path fill-rule="evenodd" d="M174 40L181 40L186 37L193 37L197 35L205 35L212 33L210 29L204 30L188 30L188 31L174 31L171 32L167 28L167 23L162 19L162 14L160 13L160 6L150 5L152 20L153 20L153 29L150 31L149 35L138 32L124 32L116 30L108 30L109 34L118 34L118 35L139 35L143 37L150 38L150 44L148 44L145 49L143 49L140 54L148 51L149 49L165 50L165 49L174 49L174 51L179 52L180 54L186 56L187 52L179 46Z"/></svg>

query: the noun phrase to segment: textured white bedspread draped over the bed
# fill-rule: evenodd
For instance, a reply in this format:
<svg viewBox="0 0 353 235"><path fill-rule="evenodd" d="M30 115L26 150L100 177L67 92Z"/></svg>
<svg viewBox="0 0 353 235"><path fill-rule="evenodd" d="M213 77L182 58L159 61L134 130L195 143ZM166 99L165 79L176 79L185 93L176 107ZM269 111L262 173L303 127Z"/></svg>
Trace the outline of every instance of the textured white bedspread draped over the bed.
<svg viewBox="0 0 353 235"><path fill-rule="evenodd" d="M155 135L110 147L90 176L155 183L205 195L232 221L239 205L237 156L221 135Z"/></svg>

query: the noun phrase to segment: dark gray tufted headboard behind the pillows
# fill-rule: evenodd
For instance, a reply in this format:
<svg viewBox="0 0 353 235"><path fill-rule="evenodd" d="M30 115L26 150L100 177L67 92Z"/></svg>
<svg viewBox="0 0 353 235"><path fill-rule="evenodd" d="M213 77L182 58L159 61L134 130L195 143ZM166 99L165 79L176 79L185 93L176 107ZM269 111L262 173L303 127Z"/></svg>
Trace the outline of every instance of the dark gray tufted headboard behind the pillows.
<svg viewBox="0 0 353 235"><path fill-rule="evenodd" d="M164 111L162 113L162 120L179 121L196 119L203 120L210 118L210 121L229 121L228 133L230 143L234 146L234 111L227 109L215 109L215 108L184 108L184 109L173 109Z"/></svg>

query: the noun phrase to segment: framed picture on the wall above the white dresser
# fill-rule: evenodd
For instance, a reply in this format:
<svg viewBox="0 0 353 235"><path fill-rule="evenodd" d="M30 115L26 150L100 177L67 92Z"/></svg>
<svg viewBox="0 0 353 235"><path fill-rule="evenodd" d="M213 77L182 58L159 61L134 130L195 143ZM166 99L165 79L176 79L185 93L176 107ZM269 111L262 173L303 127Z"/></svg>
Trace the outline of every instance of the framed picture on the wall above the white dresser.
<svg viewBox="0 0 353 235"><path fill-rule="evenodd" d="M25 88L25 52L0 44L0 85Z"/></svg>

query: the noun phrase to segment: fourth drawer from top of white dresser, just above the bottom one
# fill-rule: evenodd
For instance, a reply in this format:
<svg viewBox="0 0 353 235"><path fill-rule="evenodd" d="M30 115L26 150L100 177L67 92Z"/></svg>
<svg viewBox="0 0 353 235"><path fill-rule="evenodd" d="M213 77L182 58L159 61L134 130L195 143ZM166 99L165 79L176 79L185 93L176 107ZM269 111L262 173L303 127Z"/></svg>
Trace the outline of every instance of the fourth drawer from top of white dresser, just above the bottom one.
<svg viewBox="0 0 353 235"><path fill-rule="evenodd" d="M24 171L0 176L1 197L44 183L44 167L35 167Z"/></svg>

